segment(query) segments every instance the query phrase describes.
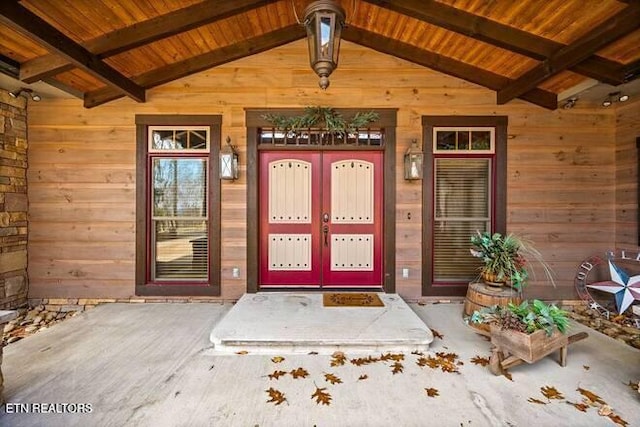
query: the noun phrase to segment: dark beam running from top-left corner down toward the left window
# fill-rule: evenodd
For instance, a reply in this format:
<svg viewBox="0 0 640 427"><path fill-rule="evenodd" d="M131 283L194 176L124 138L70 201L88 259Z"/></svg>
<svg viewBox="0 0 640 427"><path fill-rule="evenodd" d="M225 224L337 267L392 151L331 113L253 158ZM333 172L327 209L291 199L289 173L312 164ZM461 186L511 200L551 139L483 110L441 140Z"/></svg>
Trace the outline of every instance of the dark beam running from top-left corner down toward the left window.
<svg viewBox="0 0 640 427"><path fill-rule="evenodd" d="M45 20L17 1L0 1L0 22L71 61L77 67L117 88L139 102L145 100L145 90L129 78L102 62L97 56L71 40Z"/></svg>

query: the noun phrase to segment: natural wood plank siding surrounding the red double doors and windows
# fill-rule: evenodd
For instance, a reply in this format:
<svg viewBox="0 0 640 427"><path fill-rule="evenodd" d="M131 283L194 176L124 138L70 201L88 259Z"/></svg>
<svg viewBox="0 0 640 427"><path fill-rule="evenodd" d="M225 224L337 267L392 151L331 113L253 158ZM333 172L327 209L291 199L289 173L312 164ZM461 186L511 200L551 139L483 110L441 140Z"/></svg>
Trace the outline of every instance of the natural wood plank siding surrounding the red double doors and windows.
<svg viewBox="0 0 640 427"><path fill-rule="evenodd" d="M86 37L90 37L87 35ZM246 108L397 108L396 291L421 297L422 183L403 179L403 154L422 140L422 117L508 117L507 230L531 238L575 298L580 262L637 237L637 101L615 109L549 111L402 59L343 42L323 92L299 40L92 109L80 100L29 105L29 294L31 298L127 298L135 292L136 114L222 115L222 138L240 153L237 181L221 183L222 299L247 289ZM634 102L634 101L632 101ZM427 147L428 148L428 147ZM614 209L615 207L615 209ZM636 210L633 210L636 209ZM631 213L633 211L633 213ZM632 232L629 230L633 229ZM240 278L232 268L240 268ZM402 278L409 268L409 278ZM542 277L542 275L538 275ZM551 289L551 290L550 290Z"/></svg>

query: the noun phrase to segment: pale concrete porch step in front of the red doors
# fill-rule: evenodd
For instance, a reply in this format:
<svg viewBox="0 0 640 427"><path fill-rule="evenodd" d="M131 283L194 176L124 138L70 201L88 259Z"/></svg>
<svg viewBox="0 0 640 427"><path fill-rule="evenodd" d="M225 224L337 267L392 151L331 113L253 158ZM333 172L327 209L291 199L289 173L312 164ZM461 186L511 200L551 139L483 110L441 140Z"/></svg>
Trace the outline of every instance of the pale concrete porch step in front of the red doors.
<svg viewBox="0 0 640 427"><path fill-rule="evenodd" d="M425 351L433 334L397 294L384 307L323 307L322 293L245 294L215 326L216 353Z"/></svg>

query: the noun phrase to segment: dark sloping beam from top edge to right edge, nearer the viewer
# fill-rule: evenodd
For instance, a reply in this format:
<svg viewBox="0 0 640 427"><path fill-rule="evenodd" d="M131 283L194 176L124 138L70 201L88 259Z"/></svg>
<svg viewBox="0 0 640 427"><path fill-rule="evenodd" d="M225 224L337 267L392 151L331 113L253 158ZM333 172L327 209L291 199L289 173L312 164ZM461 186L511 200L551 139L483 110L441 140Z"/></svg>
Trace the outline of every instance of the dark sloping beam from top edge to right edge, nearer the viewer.
<svg viewBox="0 0 640 427"><path fill-rule="evenodd" d="M544 60L565 46L434 0L364 1L537 60ZM594 56L576 64L572 71L618 85L623 82L621 67L618 62Z"/></svg>

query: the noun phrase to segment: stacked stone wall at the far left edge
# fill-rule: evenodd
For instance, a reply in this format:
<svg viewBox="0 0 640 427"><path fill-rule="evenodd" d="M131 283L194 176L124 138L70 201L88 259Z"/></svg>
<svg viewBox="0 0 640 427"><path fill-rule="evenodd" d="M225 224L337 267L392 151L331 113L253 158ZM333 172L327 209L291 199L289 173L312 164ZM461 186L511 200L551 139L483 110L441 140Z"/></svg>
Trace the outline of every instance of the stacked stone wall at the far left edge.
<svg viewBox="0 0 640 427"><path fill-rule="evenodd" d="M27 101L0 89L0 309L27 290Z"/></svg>

